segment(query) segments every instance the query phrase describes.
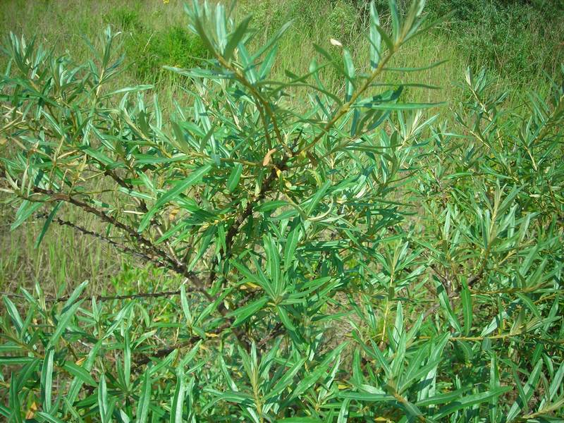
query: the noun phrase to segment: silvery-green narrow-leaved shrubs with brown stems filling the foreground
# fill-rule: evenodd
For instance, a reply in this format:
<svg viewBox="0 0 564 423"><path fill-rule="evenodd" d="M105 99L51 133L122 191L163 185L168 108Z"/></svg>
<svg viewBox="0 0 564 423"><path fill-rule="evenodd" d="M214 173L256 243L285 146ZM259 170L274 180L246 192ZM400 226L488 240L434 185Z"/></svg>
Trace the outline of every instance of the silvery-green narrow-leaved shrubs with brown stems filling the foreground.
<svg viewBox="0 0 564 423"><path fill-rule="evenodd" d="M12 228L39 214L39 248L66 226L161 270L124 271L115 295L87 297L86 282L4 295L0 414L558 421L563 88L533 94L518 119L469 71L460 133L424 117L438 105L402 94L432 87L382 82L420 70L391 61L429 28L423 6L400 15L390 1L386 32L371 4L364 65L319 45L322 63L276 80L289 24L251 49L250 17L195 1L189 29L208 59L168 66L191 80L170 114L151 85L112 86L123 57L110 30L84 64L11 35L0 175ZM164 271L173 289L147 282Z"/></svg>

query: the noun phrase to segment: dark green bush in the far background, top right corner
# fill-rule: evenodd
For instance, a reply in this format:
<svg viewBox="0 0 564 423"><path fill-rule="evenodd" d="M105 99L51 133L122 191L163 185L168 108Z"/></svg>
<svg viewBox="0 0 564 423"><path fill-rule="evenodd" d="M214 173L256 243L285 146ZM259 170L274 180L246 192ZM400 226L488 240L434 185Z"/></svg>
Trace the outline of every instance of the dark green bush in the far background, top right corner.
<svg viewBox="0 0 564 423"><path fill-rule="evenodd" d="M564 61L560 44L564 8L560 0L430 0L435 17L453 12L443 25L474 68L489 66L528 85L530 78L553 74Z"/></svg>

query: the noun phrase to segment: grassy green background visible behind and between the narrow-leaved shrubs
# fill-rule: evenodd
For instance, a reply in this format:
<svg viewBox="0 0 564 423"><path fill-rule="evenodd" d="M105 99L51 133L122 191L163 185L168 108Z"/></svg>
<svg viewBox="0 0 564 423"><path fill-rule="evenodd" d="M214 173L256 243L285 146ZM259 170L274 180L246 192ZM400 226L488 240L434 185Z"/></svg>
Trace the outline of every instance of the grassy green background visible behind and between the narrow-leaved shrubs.
<svg viewBox="0 0 564 423"><path fill-rule="evenodd" d="M510 91L508 102L515 106L526 94L525 89L545 90L543 74L550 75L563 57L558 33L564 32L564 20L556 19L558 13L547 21L546 8L550 5L546 4L537 9L520 5L511 13L510 8L495 8L491 1L482 1L482 6L485 5L482 8L475 6L465 11L468 3L472 2L461 2L462 10L458 15L407 44L400 58L391 64L398 68L418 67L448 59L447 63L417 75L419 80L441 89L412 89L406 99L447 101L443 108L454 107L461 99L458 85L467 66L491 68L496 75L497 88ZM474 3L479 4L479 1ZM345 0L241 0L236 13L255 15L253 25L258 44L264 43L284 22L294 20L295 30L282 40L274 67L274 75L283 78L286 69L296 73L307 71L311 59L319 57L313 44L340 56L340 49L331 46L329 38L339 39L353 56L364 56L369 47L364 37L364 7L361 1ZM450 8L449 2L429 1L434 16L447 13ZM474 13L472 18L467 15L470 12ZM386 23L388 16L384 14L381 20ZM153 83L164 113L172 109L173 102L185 101L182 87L186 81L161 68L163 65L197 66L200 61L196 58L205 56L201 42L184 29L181 1L165 4L133 0L4 0L0 5L0 33L4 37L10 31L28 39L35 36L37 42L55 49L57 54L68 52L77 62L90 57L83 38L99 46L99 36L106 25L122 32L122 49L128 62L127 71L116 84ZM477 44L477 39L481 44ZM4 57L0 63L6 64ZM324 77L330 86L344 90L335 72L328 71ZM393 84L400 77L405 80L405 75L389 72L384 74L382 82ZM300 94L295 94L295 101L301 101ZM439 113L440 118L452 115L442 114L441 109L429 113ZM34 249L32 245L42 222L26 223L11 232L11 206L3 205L0 212L4 222L0 227L0 247L6 252L0 257L0 290L13 290L41 281L51 293L61 293L67 292L76 281L88 279L90 288L103 291L108 278L120 274L131 262L130 257L116 255L116 251L95 239L77 235L71 228L51 228L42 247Z"/></svg>

